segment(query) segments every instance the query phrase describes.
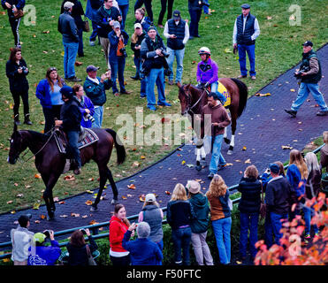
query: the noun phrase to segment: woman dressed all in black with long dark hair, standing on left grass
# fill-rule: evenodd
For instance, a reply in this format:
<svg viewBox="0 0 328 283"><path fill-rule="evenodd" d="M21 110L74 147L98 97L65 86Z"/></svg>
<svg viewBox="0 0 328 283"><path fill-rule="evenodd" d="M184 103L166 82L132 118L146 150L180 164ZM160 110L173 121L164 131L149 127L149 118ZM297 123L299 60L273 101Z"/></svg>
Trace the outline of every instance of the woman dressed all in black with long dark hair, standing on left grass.
<svg viewBox="0 0 328 283"><path fill-rule="evenodd" d="M28 105L28 74L27 63L21 56L21 50L19 48L12 48L9 60L5 65L5 73L9 79L9 88L13 98L13 116L16 125L20 125L19 122L19 103L20 97L22 98L24 105L24 124L32 125L29 114Z"/></svg>

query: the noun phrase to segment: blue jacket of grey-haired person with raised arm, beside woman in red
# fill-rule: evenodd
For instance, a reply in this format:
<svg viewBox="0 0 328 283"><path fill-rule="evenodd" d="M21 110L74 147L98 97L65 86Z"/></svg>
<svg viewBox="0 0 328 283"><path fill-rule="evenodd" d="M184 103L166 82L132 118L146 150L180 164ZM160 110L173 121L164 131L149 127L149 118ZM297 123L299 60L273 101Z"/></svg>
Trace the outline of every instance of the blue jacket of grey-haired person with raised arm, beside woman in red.
<svg viewBox="0 0 328 283"><path fill-rule="evenodd" d="M132 265L158 265L163 259L163 254L158 245L149 239L129 241L131 231L124 234L122 247L130 252Z"/></svg>

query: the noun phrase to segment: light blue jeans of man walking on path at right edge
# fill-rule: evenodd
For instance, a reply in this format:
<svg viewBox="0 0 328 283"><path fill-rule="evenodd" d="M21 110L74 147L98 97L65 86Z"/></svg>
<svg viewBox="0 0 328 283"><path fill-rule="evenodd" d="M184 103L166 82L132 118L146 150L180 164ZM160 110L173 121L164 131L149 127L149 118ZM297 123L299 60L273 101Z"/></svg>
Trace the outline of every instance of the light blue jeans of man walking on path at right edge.
<svg viewBox="0 0 328 283"><path fill-rule="evenodd" d="M293 111L298 111L301 104L305 102L311 92L313 98L316 100L317 104L320 106L321 111L328 111L327 104L324 102L324 96L319 91L319 86L317 83L306 83L301 82L296 100L292 104L291 109Z"/></svg>

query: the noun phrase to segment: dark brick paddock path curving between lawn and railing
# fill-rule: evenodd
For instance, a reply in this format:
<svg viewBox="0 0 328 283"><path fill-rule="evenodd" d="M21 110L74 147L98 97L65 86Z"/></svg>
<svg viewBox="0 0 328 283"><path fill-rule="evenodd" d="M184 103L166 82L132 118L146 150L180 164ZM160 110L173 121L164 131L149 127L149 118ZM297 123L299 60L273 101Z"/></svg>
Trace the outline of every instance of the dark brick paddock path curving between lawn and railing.
<svg viewBox="0 0 328 283"><path fill-rule="evenodd" d="M325 101L328 102L328 45L324 45L317 51L317 54L323 66L324 76L320 81L320 89L325 95ZM236 147L233 155L226 155L227 145L224 145L222 149L227 163L232 164L224 171L219 172L228 186L239 182L240 172L243 172L248 166L246 161L255 164L262 173L271 162L288 160L290 150L282 149L282 146L303 149L307 143L311 142L311 139L321 136L324 130L328 130L328 116L316 116L319 109L315 107L316 103L312 96L309 96L309 101L302 105L296 119L291 119L284 111L284 108L289 108L296 97L298 86L293 76L296 67L258 91L261 94L270 93L271 96L252 96L248 99L246 111L238 120ZM248 80L245 82L247 83ZM246 150L242 150L243 147L246 147ZM183 161L185 161L184 164L182 164ZM209 163L209 156L207 161ZM139 195L146 195L150 192L156 193L157 201L162 207L165 207L170 200L170 195L166 195L165 191L172 192L178 182L186 184L187 180L199 179L204 181L202 188L207 189L210 183L207 179L208 170L196 172L195 167L189 168L188 164L195 164L195 149L185 145L149 168L118 181L119 201L126 205L127 215L139 213L142 206ZM134 190L127 188L131 184L136 187ZM95 190L96 192L97 190ZM30 230L33 232L44 229L60 231L86 226L92 220L108 221L113 210L113 206L110 204L111 188L104 190L104 193L106 193L107 199L99 203L99 211L92 214L89 212L90 207L85 204L88 200L94 201L93 195L88 193L67 198L64 204L57 203L56 220L51 222L40 218L42 214L46 215L44 205L39 210L27 209L19 210L15 214L4 213L0 215L0 242L10 241L9 233L11 228L16 227L15 220L25 213L33 215L30 226ZM126 196L126 199L122 199L122 196ZM79 213L80 217L72 217L72 212ZM82 218L82 216L88 218ZM40 223L36 224L34 220L40 220Z"/></svg>

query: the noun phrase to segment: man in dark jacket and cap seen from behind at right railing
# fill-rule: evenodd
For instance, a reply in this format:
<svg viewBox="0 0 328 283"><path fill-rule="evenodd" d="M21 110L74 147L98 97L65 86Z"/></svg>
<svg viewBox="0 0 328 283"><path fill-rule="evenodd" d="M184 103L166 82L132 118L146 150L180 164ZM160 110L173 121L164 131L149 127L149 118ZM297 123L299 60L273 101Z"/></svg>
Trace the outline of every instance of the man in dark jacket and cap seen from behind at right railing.
<svg viewBox="0 0 328 283"><path fill-rule="evenodd" d="M266 187L265 203L268 210L267 217L270 218L275 241L279 245L282 237L282 233L280 233L282 227L281 220L287 220L288 211L292 204L296 202L296 193L288 180L279 175L278 164L270 164L270 172L272 179ZM270 237L266 235L266 238ZM269 247L270 244L267 243L267 245Z"/></svg>

